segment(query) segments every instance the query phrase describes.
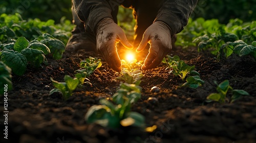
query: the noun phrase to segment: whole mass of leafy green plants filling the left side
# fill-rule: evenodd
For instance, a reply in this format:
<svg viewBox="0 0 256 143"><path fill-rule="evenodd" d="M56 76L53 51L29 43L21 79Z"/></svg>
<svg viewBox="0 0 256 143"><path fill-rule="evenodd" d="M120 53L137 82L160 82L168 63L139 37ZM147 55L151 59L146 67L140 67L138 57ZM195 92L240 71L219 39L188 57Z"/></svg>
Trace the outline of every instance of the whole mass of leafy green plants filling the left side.
<svg viewBox="0 0 256 143"><path fill-rule="evenodd" d="M12 89L12 73L25 74L28 66L38 68L47 64L45 55L60 59L74 28L71 21L62 18L57 25L54 20L23 20L20 14L0 15L0 63L1 86ZM1 90L0 94L4 94Z"/></svg>

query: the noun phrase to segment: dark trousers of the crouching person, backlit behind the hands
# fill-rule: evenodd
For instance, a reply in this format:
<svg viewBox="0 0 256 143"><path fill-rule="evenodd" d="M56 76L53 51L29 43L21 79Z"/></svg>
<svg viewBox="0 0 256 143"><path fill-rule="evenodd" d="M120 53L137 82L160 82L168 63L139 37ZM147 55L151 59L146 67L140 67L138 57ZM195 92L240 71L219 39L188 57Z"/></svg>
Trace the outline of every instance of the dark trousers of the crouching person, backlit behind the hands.
<svg viewBox="0 0 256 143"><path fill-rule="evenodd" d="M133 17L136 20L134 28L134 47L137 47L142 39L145 30L152 25L157 13L163 5L163 0L125 0L121 5L125 8L133 9ZM112 17L117 23L118 8L113 9ZM77 26L73 33L84 32L84 23L77 17L72 6L73 23Z"/></svg>

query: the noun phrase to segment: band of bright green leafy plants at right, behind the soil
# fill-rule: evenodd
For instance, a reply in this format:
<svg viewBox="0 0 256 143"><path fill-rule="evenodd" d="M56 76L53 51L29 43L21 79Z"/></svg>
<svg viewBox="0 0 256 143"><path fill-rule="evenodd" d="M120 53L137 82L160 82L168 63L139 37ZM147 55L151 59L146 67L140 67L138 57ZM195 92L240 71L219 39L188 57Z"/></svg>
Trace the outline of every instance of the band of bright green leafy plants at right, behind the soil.
<svg viewBox="0 0 256 143"><path fill-rule="evenodd" d="M250 55L254 59L256 41L256 22L243 22L231 19L222 25L217 19L189 19L188 25L178 34L176 45L197 46L198 51L211 51L218 60L229 57L232 53L239 56ZM236 47L237 46L237 47Z"/></svg>

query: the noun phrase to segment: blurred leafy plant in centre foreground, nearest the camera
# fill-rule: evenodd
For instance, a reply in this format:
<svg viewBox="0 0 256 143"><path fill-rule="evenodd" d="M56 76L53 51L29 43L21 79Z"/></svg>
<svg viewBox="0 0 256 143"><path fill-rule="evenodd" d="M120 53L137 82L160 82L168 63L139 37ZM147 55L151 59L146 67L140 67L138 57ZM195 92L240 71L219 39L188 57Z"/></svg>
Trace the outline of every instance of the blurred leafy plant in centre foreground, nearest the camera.
<svg viewBox="0 0 256 143"><path fill-rule="evenodd" d="M131 106L141 96L141 88L135 84L122 83L120 89L113 96L111 103L106 99L101 99L101 105L92 106L86 114L88 123L97 123L104 127L119 128L120 125L144 126L144 116L131 111Z"/></svg>

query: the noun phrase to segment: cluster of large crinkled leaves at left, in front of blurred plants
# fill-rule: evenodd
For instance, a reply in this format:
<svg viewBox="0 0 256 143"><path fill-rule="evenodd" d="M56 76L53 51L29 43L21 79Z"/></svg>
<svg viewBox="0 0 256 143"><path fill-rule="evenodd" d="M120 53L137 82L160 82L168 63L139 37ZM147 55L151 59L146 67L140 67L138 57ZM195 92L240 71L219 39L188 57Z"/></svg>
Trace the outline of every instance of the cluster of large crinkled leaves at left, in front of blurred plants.
<svg viewBox="0 0 256 143"><path fill-rule="evenodd" d="M22 76L28 64L38 68L41 63L47 63L47 54L52 53L53 58L60 59L65 45L45 33L30 42L25 37L19 37L12 43L0 44L0 49L3 49L0 60L7 64L15 75Z"/></svg>

